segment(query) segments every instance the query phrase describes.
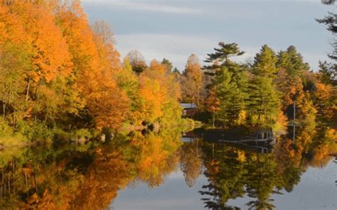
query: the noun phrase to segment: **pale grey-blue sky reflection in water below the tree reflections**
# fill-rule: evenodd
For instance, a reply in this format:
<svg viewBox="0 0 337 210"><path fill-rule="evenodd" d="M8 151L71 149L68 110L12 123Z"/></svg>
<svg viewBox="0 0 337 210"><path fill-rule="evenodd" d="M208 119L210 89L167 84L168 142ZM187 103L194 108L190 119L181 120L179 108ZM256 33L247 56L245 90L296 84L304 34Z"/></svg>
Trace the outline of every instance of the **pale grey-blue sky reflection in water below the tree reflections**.
<svg viewBox="0 0 337 210"><path fill-rule="evenodd" d="M309 168L301 177L294 191L275 194L272 198L277 209L337 209L336 181L337 167L333 161L325 168ZM165 184L149 189L145 183L127 187L119 193L110 207L112 209L204 209L198 193L208 180L205 176L197 179L194 187L187 187L183 172L178 170L166 177ZM250 197L230 199L229 206L247 209Z"/></svg>

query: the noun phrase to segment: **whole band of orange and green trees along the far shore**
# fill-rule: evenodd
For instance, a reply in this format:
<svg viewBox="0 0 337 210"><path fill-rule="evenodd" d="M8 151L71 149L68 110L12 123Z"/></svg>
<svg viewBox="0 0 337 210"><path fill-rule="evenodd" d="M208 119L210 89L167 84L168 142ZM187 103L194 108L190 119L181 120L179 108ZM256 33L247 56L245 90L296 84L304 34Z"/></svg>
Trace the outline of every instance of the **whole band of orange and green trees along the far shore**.
<svg viewBox="0 0 337 210"><path fill-rule="evenodd" d="M263 45L252 62L235 62L245 52L220 42L208 65L192 54L179 71L137 50L122 58L111 26L90 23L80 1L2 1L0 11L2 147L191 123L179 102L213 127L336 126L336 62L313 71L294 46ZM318 21L336 33L329 17Z"/></svg>

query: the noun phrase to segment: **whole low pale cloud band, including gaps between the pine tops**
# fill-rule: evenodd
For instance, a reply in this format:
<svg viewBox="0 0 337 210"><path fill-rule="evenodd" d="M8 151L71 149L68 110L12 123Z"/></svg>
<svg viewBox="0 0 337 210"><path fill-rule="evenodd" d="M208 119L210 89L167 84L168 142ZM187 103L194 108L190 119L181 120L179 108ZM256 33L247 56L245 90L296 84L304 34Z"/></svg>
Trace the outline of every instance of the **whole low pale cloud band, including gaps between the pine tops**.
<svg viewBox="0 0 337 210"><path fill-rule="evenodd" d="M183 70L186 60L191 53L198 55L202 62L207 53L213 52L218 42L226 40L219 35L181 35L181 34L158 34L158 33L134 33L116 35L117 50L122 56L127 55L131 50L139 50L145 57L146 62L152 59L162 60L164 57L173 62L173 65ZM274 45L270 45L276 52L284 50ZM237 62L253 60L255 54L260 51L260 45L240 45L246 53L241 57L235 58ZM316 70L318 60L326 59L325 52L308 52L298 49L304 56L304 61L309 62Z"/></svg>

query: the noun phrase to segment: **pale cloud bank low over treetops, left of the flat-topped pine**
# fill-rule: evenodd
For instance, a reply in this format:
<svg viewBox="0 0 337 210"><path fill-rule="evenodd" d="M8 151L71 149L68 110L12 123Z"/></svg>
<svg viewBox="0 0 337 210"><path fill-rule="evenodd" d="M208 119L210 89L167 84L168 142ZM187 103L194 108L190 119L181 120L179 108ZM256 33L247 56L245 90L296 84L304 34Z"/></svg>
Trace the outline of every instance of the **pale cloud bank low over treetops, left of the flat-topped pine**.
<svg viewBox="0 0 337 210"><path fill-rule="evenodd" d="M213 36L138 33L116 35L117 50L122 56L130 50L139 50L146 62L152 59L162 60L164 57L173 62L173 65L183 70L186 60L191 53L205 58L205 53L212 52L219 38Z"/></svg>

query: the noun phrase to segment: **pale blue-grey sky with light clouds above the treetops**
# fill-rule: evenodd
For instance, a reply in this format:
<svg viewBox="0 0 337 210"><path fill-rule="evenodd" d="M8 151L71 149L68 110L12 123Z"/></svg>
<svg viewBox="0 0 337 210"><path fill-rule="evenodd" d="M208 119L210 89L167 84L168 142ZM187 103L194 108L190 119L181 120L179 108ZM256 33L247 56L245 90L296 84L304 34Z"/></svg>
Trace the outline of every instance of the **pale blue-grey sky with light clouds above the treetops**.
<svg viewBox="0 0 337 210"><path fill-rule="evenodd" d="M84 0L90 21L105 20L122 57L139 50L146 62L169 59L183 70L192 53L203 61L220 41L237 43L252 61L262 45L294 45L316 70L328 60L332 35L315 18L336 7L320 0Z"/></svg>

